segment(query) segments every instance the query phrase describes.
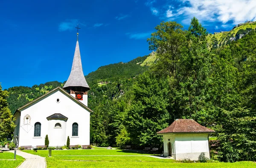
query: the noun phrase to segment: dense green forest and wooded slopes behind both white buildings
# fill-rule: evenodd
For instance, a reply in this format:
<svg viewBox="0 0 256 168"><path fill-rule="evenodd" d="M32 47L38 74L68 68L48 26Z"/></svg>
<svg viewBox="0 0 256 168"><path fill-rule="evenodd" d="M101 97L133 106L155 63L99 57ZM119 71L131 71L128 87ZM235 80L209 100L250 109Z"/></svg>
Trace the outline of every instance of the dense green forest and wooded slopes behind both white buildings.
<svg viewBox="0 0 256 168"><path fill-rule="evenodd" d="M141 66L143 56L89 73L91 143L161 148L156 132L187 118L216 131L215 159L255 161L256 30L240 33L243 38L219 46L196 18L188 30L161 22L147 39L157 53L154 64ZM9 108L13 113L57 86L63 83L9 88Z"/></svg>

